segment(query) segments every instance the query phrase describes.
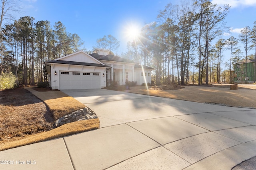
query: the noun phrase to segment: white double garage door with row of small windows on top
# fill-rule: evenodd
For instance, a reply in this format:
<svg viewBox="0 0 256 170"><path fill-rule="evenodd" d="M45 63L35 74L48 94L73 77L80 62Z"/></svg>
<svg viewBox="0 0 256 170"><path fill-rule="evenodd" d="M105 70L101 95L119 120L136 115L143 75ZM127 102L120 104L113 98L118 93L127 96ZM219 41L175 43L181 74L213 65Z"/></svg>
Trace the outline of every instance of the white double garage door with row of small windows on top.
<svg viewBox="0 0 256 170"><path fill-rule="evenodd" d="M60 71L60 90L101 88L100 73Z"/></svg>

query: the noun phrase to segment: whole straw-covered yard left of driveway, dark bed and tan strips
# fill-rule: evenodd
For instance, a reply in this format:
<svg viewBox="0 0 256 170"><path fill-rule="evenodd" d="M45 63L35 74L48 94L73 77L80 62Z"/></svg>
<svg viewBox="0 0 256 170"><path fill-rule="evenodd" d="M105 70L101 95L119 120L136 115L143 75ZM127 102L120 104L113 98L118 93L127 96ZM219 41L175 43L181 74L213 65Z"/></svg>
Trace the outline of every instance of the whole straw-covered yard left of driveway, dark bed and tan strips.
<svg viewBox="0 0 256 170"><path fill-rule="evenodd" d="M41 100L24 88L0 91L0 150L100 127L99 119L90 119L52 129L56 119L85 106L60 91L33 93Z"/></svg>

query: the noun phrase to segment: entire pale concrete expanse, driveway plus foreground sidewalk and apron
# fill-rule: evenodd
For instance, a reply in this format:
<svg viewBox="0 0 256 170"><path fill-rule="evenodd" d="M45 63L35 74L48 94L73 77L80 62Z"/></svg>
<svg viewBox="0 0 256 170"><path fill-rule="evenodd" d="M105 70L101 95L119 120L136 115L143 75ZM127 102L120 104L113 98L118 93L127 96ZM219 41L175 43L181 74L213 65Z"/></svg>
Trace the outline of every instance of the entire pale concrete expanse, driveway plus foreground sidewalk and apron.
<svg viewBox="0 0 256 170"><path fill-rule="evenodd" d="M4 150L0 169L230 170L256 156L256 109L104 89L63 92L95 111L100 129Z"/></svg>

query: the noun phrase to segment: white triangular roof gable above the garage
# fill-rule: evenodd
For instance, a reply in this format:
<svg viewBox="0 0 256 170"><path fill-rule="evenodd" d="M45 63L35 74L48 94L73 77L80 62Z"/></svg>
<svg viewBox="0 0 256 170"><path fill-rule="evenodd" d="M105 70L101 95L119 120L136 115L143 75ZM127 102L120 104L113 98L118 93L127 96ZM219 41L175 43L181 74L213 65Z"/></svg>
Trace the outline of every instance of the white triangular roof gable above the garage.
<svg viewBox="0 0 256 170"><path fill-rule="evenodd" d="M72 61L72 62L81 62L81 63L103 64L82 50L76 53L72 53L70 55L66 55L64 57L60 57L58 59L54 59L53 61Z"/></svg>

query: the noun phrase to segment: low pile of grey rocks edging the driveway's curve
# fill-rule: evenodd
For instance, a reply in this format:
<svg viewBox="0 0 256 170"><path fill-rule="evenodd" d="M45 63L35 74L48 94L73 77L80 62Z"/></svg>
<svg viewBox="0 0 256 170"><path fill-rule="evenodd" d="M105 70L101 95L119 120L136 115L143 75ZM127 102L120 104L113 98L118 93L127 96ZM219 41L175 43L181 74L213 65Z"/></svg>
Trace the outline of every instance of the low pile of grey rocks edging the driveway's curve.
<svg viewBox="0 0 256 170"><path fill-rule="evenodd" d="M66 123L71 123L74 121L96 119L96 118L98 118L96 113L92 111L90 108L85 107L83 109L74 111L68 115L64 115L63 117L60 117L60 119L57 119L54 122L53 128L60 127L61 125L64 125Z"/></svg>

